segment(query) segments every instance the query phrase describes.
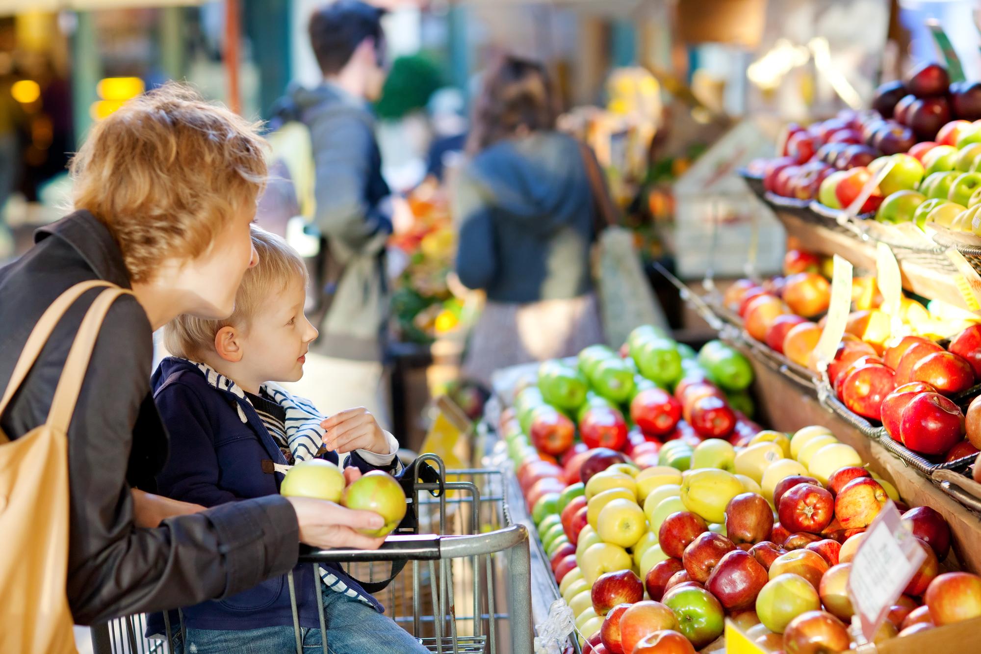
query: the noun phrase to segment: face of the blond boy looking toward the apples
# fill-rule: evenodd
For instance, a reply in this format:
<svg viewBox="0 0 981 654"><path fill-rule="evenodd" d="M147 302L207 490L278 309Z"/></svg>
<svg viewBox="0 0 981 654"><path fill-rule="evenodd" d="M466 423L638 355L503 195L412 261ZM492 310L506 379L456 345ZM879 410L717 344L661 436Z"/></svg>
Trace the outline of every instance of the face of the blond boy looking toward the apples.
<svg viewBox="0 0 981 654"><path fill-rule="evenodd" d="M292 382L303 376L307 350L317 338L317 329L303 314L305 299L303 280L297 278L283 293L272 293L263 300L241 335L239 364L256 385Z"/></svg>

